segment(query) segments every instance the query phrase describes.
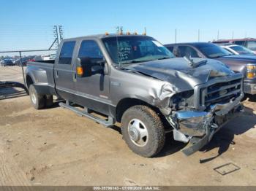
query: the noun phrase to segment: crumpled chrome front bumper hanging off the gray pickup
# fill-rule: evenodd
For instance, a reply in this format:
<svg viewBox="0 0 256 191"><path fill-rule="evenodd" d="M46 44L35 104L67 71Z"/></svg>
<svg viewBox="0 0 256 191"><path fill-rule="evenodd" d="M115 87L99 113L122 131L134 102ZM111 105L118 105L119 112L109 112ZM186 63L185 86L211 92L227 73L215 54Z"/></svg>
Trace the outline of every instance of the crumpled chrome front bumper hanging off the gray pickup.
<svg viewBox="0 0 256 191"><path fill-rule="evenodd" d="M208 112L182 111L166 117L173 126L173 137L176 141L187 143L190 146L183 150L185 155L192 155L211 141L226 122L236 116L243 106L240 104L244 94L227 104L214 104Z"/></svg>

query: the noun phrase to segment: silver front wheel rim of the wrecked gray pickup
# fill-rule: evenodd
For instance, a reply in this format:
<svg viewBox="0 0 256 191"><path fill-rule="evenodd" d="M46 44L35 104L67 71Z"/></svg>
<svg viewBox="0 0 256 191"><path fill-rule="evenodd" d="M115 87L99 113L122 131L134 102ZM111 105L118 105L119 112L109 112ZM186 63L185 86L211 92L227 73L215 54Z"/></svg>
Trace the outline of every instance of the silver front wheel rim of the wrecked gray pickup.
<svg viewBox="0 0 256 191"><path fill-rule="evenodd" d="M129 139L139 147L143 147L148 142L148 130L146 125L138 119L133 119L128 125Z"/></svg>

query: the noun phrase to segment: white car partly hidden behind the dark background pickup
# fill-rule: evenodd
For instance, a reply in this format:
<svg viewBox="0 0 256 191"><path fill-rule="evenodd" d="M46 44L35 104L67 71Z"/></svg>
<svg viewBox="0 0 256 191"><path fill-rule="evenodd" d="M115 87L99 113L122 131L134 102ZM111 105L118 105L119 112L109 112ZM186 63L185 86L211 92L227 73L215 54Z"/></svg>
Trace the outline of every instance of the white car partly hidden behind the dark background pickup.
<svg viewBox="0 0 256 191"><path fill-rule="evenodd" d="M219 44L219 46L234 55L256 55L252 50L237 44Z"/></svg>

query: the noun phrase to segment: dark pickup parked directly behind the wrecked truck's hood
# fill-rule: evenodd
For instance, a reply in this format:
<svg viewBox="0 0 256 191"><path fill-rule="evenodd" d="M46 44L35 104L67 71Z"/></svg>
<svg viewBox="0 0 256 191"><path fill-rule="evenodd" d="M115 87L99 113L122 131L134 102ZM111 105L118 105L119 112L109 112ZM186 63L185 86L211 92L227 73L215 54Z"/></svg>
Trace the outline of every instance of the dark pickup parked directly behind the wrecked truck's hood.
<svg viewBox="0 0 256 191"><path fill-rule="evenodd" d="M233 71L244 74L244 93L256 94L255 55L234 55L217 44L208 42L166 44L165 47L176 57L211 58L225 63Z"/></svg>

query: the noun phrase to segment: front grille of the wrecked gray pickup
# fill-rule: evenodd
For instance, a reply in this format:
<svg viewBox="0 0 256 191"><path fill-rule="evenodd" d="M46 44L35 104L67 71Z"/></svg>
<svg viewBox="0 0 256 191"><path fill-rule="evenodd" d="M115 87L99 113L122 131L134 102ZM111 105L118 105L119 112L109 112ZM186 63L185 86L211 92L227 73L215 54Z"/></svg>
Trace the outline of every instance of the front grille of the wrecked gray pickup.
<svg viewBox="0 0 256 191"><path fill-rule="evenodd" d="M241 81L242 79L236 79L206 87L201 94L203 95L202 104L209 106L215 103L230 101L232 98L237 98L241 95Z"/></svg>

